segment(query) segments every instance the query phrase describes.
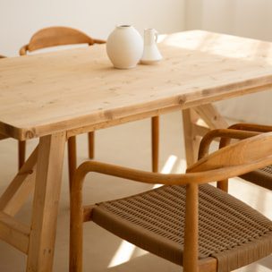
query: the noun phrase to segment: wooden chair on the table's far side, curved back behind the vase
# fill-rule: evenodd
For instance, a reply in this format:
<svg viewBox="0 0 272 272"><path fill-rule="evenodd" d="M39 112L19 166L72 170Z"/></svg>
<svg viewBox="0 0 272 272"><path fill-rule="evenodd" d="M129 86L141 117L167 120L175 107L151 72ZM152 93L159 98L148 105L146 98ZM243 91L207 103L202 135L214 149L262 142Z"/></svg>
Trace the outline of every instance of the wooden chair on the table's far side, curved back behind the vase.
<svg viewBox="0 0 272 272"><path fill-rule="evenodd" d="M50 27L43 30L38 30L30 43L21 47L20 55L27 55L27 52L32 52L46 47L57 47L72 44L94 44L106 43L106 41L96 38L90 38L85 33L66 27ZM158 116L152 117L152 171L157 172L158 168ZM88 133L89 137L89 158L94 157L94 132ZM72 137L68 140L69 149L69 176L72 179L72 174L76 168L76 140ZM25 141L19 141L19 168L25 161Z"/></svg>

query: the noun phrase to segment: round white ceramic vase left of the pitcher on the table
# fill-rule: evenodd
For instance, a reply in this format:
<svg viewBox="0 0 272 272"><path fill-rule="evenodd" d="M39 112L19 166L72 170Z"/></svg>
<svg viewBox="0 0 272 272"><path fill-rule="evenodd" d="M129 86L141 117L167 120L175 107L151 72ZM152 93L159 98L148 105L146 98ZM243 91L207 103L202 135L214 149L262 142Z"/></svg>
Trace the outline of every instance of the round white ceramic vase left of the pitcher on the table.
<svg viewBox="0 0 272 272"><path fill-rule="evenodd" d="M139 63L143 51L140 33L131 25L119 25L106 40L106 53L115 68L130 69Z"/></svg>

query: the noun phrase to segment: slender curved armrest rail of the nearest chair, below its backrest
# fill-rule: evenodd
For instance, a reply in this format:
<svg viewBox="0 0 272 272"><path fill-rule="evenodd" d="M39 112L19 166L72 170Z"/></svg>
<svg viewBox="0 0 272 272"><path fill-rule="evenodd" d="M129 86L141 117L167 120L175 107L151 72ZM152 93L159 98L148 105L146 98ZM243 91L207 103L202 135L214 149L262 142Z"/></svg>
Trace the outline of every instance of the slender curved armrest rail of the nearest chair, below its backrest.
<svg viewBox="0 0 272 272"><path fill-rule="evenodd" d="M239 174L248 173L259 167L272 163L272 157L257 159L253 163L244 163L234 166L221 166L215 169L201 170L194 172L191 167L186 174L160 174L123 166L114 166L100 162L87 161L79 166L72 180L72 191L81 191L85 176L91 172L99 174L108 174L127 180L149 183L149 184L165 184L165 185L186 185L190 183L212 183L217 180L227 179Z"/></svg>

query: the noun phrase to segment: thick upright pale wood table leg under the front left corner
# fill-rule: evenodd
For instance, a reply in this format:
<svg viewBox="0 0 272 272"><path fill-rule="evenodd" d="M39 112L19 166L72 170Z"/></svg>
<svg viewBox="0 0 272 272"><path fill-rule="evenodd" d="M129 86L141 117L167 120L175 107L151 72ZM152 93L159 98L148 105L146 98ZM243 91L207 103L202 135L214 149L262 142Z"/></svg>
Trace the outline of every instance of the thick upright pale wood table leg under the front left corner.
<svg viewBox="0 0 272 272"><path fill-rule="evenodd" d="M64 133L56 133L39 141L28 272L49 272L53 268L65 140Z"/></svg>

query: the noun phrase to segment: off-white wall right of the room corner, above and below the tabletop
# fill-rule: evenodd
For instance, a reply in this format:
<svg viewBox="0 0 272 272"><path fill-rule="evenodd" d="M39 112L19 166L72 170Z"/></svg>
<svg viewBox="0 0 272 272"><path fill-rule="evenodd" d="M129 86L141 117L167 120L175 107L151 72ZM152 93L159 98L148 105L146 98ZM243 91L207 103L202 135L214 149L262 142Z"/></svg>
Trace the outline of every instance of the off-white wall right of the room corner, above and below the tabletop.
<svg viewBox="0 0 272 272"><path fill-rule="evenodd" d="M271 0L187 0L185 27L272 41ZM195 15L196 14L196 15ZM217 103L222 115L272 124L272 90Z"/></svg>

